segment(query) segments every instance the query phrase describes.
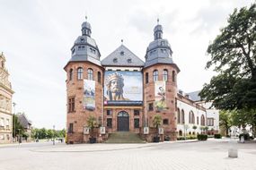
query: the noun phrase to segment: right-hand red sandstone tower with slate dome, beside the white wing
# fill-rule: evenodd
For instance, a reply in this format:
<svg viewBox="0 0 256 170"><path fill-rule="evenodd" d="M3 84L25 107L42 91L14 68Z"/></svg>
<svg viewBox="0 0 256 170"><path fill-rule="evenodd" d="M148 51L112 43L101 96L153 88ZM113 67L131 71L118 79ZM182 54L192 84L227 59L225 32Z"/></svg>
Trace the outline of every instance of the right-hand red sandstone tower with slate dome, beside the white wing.
<svg viewBox="0 0 256 170"><path fill-rule="evenodd" d="M168 40L163 39L163 26L159 20L154 27L154 40L147 47L145 58L145 127L152 127L154 116L161 115L163 136L176 140L177 73L180 69L173 63L172 48Z"/></svg>

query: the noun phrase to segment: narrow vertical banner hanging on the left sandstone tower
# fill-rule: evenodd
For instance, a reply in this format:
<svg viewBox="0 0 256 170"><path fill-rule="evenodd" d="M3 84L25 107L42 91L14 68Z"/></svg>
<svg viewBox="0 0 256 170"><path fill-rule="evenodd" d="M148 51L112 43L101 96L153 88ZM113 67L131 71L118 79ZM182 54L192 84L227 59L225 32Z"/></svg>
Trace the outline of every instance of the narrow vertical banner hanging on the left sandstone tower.
<svg viewBox="0 0 256 170"><path fill-rule="evenodd" d="M95 108L95 81L84 80L84 108Z"/></svg>

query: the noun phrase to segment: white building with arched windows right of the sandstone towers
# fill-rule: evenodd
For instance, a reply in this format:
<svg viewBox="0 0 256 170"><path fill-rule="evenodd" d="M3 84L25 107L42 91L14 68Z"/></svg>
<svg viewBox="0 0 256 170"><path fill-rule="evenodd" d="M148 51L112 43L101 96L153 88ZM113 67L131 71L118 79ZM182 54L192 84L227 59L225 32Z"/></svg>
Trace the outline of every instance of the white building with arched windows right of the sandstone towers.
<svg viewBox="0 0 256 170"><path fill-rule="evenodd" d="M178 136L184 136L184 132L186 135L206 132L205 127L207 134L219 132L218 110L210 106L211 103L200 100L199 91L184 94L180 90L177 98Z"/></svg>

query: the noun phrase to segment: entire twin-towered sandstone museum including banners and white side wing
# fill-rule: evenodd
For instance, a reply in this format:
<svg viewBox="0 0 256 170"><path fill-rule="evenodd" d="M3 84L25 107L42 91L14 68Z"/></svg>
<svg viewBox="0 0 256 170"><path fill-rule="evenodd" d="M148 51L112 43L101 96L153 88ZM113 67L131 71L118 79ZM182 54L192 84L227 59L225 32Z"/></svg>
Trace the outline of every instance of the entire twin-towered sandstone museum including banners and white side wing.
<svg viewBox="0 0 256 170"><path fill-rule="evenodd" d="M82 35L75 39L64 68L67 143L89 141L90 117L95 119L96 128L91 130L98 142L113 132L134 132L151 141L156 133L155 115L161 116L161 140L176 140L185 131L199 132L199 126L206 125L206 108L178 91L180 69L172 60L162 25L154 27L145 62L124 45L101 60L91 33L90 23L84 21ZM193 124L197 124L197 131L192 130Z"/></svg>

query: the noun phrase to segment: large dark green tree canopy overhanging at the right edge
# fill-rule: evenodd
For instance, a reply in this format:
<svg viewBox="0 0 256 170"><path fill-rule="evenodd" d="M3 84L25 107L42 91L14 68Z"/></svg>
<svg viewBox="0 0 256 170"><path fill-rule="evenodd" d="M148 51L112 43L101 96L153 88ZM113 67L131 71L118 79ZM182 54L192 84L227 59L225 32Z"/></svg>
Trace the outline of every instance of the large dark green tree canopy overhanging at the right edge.
<svg viewBox="0 0 256 170"><path fill-rule="evenodd" d="M199 96L218 109L256 108L256 4L234 9L208 46L207 69L218 72Z"/></svg>

